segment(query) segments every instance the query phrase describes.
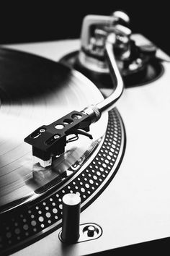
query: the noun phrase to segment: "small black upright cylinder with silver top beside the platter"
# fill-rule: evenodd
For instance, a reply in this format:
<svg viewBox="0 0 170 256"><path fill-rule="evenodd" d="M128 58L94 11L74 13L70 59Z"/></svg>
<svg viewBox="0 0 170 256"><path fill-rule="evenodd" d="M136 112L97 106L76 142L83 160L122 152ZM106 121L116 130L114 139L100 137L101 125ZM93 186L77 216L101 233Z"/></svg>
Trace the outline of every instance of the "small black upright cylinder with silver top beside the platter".
<svg viewBox="0 0 170 256"><path fill-rule="evenodd" d="M79 239L81 198L77 194L63 196L63 222L61 239L68 244Z"/></svg>

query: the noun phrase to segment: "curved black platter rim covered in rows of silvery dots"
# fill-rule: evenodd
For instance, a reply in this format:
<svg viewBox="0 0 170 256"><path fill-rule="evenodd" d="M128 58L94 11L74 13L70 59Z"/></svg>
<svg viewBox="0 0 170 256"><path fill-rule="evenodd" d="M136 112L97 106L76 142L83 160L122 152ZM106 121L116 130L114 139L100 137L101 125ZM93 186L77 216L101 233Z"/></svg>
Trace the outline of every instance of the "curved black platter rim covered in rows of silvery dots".
<svg viewBox="0 0 170 256"><path fill-rule="evenodd" d="M84 210L115 176L125 151L125 129L116 109L109 112L107 132L97 155L63 187L32 205L1 214L1 253L11 252L61 226L61 199L65 193L81 195Z"/></svg>

